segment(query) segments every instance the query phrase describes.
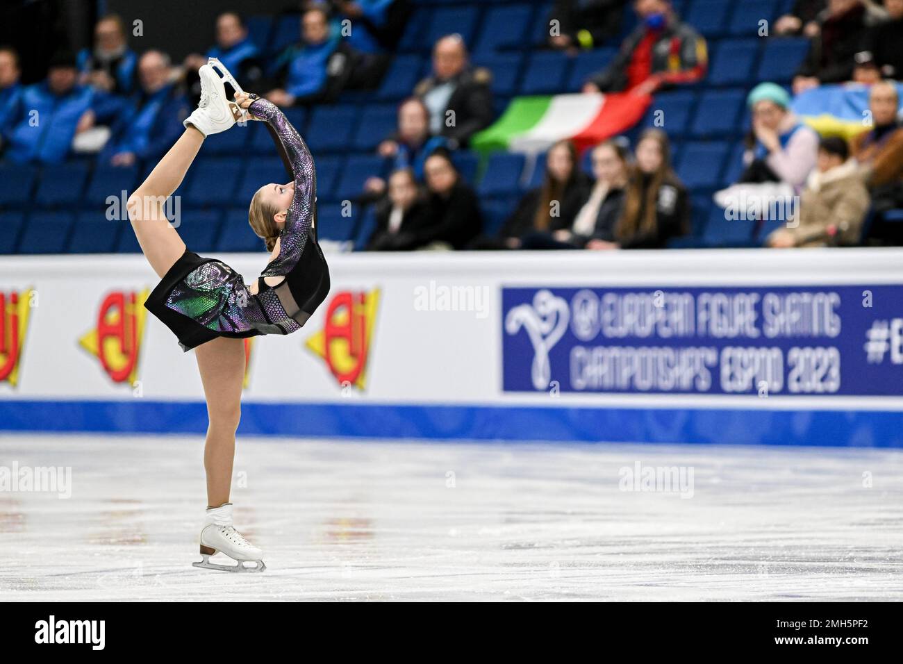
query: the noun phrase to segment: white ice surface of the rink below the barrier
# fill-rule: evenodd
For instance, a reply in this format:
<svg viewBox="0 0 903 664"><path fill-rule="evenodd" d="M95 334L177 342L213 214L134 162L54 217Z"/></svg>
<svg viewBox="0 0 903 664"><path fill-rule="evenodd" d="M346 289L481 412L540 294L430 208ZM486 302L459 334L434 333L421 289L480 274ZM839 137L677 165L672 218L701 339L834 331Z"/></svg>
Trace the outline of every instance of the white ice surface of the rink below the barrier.
<svg viewBox="0 0 903 664"><path fill-rule="evenodd" d="M191 567L202 443L0 437L71 467L0 491L0 600L903 599L901 451L239 438L238 575ZM692 497L621 491L636 463Z"/></svg>

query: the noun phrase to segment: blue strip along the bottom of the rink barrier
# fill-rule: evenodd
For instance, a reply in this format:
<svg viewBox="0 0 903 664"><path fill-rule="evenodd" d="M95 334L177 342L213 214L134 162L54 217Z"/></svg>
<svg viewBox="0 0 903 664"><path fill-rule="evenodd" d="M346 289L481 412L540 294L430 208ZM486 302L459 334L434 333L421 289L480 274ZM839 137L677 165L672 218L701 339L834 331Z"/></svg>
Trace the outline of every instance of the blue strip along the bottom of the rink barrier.
<svg viewBox="0 0 903 664"><path fill-rule="evenodd" d="M203 402L0 401L0 431L203 435ZM903 413L739 408L242 406L238 435L903 447Z"/></svg>

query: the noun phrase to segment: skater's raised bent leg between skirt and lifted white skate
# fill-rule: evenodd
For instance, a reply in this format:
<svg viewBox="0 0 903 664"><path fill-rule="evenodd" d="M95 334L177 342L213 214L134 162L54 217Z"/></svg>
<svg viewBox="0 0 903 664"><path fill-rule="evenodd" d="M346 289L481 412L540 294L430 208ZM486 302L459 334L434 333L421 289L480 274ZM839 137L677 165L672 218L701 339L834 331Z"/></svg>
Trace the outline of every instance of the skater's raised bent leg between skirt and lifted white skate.
<svg viewBox="0 0 903 664"><path fill-rule="evenodd" d="M193 127L185 129L182 137L128 199L128 218L138 244L154 272L161 277L185 251L185 243L167 219L163 205L182 183L203 142L200 131Z"/></svg>

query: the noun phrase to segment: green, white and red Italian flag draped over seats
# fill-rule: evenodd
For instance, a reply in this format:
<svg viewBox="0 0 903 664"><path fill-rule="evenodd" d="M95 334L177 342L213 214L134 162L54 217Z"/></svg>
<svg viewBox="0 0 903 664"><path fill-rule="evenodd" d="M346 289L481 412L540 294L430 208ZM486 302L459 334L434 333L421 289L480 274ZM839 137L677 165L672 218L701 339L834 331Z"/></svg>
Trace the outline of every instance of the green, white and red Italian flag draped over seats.
<svg viewBox="0 0 903 664"><path fill-rule="evenodd" d="M582 152L636 125L651 103L651 95L635 92L517 97L470 145L483 153L540 153L570 138Z"/></svg>

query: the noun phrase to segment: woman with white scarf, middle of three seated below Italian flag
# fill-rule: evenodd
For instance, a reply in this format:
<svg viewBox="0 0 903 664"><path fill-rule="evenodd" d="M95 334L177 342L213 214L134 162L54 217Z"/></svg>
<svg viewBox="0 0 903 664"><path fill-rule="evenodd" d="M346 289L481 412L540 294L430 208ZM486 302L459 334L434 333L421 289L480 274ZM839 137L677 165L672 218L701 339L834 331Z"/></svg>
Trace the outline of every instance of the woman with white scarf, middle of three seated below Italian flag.
<svg viewBox="0 0 903 664"><path fill-rule="evenodd" d="M627 186L630 153L619 141L610 140L592 150L592 174L596 182L588 190L569 228L535 233L524 238L523 248L602 248L615 241L624 188Z"/></svg>

